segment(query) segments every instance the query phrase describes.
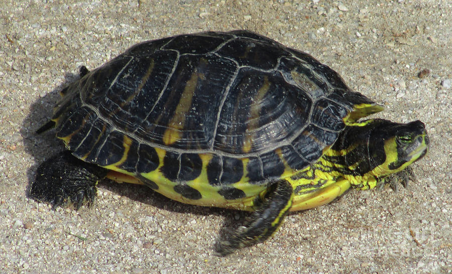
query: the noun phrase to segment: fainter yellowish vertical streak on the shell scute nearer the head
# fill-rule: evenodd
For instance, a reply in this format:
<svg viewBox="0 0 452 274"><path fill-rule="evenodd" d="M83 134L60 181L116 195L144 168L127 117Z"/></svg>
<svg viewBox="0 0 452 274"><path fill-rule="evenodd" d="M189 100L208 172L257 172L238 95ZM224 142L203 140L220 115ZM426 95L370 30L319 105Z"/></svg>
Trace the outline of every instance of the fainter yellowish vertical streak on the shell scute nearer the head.
<svg viewBox="0 0 452 274"><path fill-rule="evenodd" d="M268 81L268 77L264 77L264 84L259 88L256 96L253 97L254 103L251 105L250 108L250 118L248 119L248 129L250 130L250 133L246 135L245 141L243 144L243 152L249 153L251 151L251 147L253 146L253 137L254 134L251 132L251 130L255 129L259 122L259 114L262 109L262 105L260 102L262 99L264 99L265 94L267 94L268 90L270 89L270 82Z"/></svg>

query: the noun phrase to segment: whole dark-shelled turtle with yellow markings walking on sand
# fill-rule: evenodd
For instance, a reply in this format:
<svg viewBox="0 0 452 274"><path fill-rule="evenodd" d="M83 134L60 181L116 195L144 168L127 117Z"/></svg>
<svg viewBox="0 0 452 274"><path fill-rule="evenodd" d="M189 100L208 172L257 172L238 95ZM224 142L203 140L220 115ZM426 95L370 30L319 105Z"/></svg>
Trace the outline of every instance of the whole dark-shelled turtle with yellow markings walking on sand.
<svg viewBox="0 0 452 274"><path fill-rule="evenodd" d="M30 196L91 205L104 179L178 202L250 211L215 250L272 236L291 211L372 189L428 151L419 121L362 119L383 106L311 55L254 32L136 44L61 91L66 150L39 165Z"/></svg>

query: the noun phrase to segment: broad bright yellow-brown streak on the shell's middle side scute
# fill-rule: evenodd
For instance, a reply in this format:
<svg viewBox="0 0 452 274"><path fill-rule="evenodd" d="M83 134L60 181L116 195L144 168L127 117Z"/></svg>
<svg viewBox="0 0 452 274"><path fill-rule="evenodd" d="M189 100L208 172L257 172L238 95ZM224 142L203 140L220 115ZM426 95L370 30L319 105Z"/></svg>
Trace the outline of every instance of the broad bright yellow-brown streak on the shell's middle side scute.
<svg viewBox="0 0 452 274"><path fill-rule="evenodd" d="M174 144L182 138L182 132L180 130L184 128L185 115L190 110L198 79L205 80L205 75L195 70L185 85L174 115L168 123L169 128L163 134L163 143L167 146Z"/></svg>

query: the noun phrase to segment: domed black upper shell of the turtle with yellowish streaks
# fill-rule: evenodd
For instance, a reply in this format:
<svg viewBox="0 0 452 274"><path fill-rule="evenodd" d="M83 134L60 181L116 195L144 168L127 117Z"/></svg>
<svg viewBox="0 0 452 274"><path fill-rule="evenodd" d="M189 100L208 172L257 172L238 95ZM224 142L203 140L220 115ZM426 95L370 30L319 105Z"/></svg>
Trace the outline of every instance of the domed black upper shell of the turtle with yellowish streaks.
<svg viewBox="0 0 452 274"><path fill-rule="evenodd" d="M205 168L212 185L304 169L381 110L310 55L248 31L137 44L62 95L53 120L74 156L172 182Z"/></svg>

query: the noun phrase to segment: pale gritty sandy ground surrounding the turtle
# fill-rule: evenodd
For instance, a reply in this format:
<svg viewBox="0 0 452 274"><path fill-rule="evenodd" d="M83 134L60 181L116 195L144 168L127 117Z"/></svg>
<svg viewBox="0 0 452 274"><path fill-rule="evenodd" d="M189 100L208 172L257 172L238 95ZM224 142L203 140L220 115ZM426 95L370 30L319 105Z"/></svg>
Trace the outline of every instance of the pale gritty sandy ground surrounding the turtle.
<svg viewBox="0 0 452 274"><path fill-rule="evenodd" d="M2 1L0 272L451 272L451 2L343 3ZM378 117L422 120L431 147L413 165L417 182L292 214L272 240L228 257L213 242L247 213L112 183L77 212L28 198L37 165L63 149L52 132L34 131L80 65L144 40L234 29L312 54L384 104Z"/></svg>

